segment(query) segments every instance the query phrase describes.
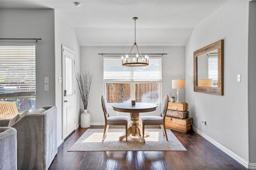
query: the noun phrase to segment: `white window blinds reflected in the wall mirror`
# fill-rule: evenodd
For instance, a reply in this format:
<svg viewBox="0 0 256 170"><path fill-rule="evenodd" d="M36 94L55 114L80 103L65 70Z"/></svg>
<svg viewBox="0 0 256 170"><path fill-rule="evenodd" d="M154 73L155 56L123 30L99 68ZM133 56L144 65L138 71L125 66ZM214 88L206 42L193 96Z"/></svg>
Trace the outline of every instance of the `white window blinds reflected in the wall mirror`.
<svg viewBox="0 0 256 170"><path fill-rule="evenodd" d="M218 80L218 56L208 57L208 78Z"/></svg>

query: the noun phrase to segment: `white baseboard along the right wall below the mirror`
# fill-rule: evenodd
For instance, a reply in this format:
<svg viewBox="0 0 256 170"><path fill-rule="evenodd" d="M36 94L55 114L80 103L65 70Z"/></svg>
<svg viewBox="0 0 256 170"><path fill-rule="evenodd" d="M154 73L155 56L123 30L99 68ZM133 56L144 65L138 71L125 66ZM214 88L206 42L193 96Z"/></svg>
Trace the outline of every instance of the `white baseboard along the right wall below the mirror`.
<svg viewBox="0 0 256 170"><path fill-rule="evenodd" d="M223 145L221 145L220 143L218 143L217 141L215 141L214 139L212 139L211 137L209 137L208 135L204 134L203 132L199 131L198 129L194 128L194 131L196 133L198 133L200 136L202 136L204 139L206 139L207 141L209 141L210 143L212 143L214 146L216 146L218 149L222 150L223 152L225 152L226 154L228 154L228 156L232 157L234 160L236 160L237 162L239 162L240 164L242 164L242 166L244 166L245 168L249 169L249 170L256 170L256 163L249 163L246 162L246 160L244 160L243 158L241 158L240 156L238 156L237 154L235 154L234 152L232 152L231 150L227 149L226 147L224 147Z"/></svg>

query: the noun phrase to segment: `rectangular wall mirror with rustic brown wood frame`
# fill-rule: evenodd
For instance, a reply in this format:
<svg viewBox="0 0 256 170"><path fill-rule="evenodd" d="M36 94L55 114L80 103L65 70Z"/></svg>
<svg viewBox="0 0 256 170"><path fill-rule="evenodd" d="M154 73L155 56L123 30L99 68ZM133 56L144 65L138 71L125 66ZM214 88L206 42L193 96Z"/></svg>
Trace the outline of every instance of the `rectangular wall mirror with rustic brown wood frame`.
<svg viewBox="0 0 256 170"><path fill-rule="evenodd" d="M194 51L194 92L223 95L223 39Z"/></svg>

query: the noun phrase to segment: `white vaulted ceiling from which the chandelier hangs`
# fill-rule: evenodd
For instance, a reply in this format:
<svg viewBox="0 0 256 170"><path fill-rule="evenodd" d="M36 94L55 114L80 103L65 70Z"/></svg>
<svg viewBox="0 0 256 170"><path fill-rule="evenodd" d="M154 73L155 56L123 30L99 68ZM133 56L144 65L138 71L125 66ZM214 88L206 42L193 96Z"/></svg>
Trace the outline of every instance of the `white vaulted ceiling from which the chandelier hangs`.
<svg viewBox="0 0 256 170"><path fill-rule="evenodd" d="M80 2L81 6L74 6ZM185 46L194 27L226 0L0 0L1 8L53 8L81 46ZM1 23L2 24L2 23Z"/></svg>

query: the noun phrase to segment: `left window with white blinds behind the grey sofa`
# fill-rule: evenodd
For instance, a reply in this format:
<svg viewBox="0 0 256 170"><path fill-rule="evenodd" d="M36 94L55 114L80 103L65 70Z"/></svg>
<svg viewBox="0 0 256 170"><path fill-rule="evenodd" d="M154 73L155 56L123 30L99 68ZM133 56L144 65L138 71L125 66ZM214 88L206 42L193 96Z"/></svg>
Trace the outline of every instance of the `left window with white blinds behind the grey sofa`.
<svg viewBox="0 0 256 170"><path fill-rule="evenodd" d="M0 46L0 99L15 101L20 112L35 109L35 45Z"/></svg>

